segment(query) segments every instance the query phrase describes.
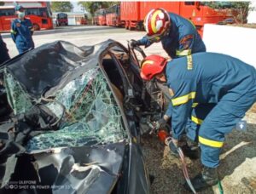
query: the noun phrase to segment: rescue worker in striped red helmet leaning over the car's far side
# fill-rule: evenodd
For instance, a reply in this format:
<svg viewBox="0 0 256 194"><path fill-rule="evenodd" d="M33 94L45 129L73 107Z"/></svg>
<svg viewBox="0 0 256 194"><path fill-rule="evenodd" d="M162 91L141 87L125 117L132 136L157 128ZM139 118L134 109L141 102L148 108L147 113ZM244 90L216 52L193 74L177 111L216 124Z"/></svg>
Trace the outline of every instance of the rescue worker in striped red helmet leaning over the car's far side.
<svg viewBox="0 0 256 194"><path fill-rule="evenodd" d="M161 42L172 59L206 51L194 24L178 14L167 13L165 9L152 9L145 17L144 29L147 36L138 41L131 40L131 47L148 47Z"/></svg>

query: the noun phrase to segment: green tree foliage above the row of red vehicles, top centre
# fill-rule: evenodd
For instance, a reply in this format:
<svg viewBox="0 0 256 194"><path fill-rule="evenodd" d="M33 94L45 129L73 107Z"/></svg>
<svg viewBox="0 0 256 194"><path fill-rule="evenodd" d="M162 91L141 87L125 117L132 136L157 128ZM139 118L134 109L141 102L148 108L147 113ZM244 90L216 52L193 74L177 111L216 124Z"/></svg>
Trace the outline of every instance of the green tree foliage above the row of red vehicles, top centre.
<svg viewBox="0 0 256 194"><path fill-rule="evenodd" d="M93 16L97 9L107 9L117 2L79 2L78 4Z"/></svg>

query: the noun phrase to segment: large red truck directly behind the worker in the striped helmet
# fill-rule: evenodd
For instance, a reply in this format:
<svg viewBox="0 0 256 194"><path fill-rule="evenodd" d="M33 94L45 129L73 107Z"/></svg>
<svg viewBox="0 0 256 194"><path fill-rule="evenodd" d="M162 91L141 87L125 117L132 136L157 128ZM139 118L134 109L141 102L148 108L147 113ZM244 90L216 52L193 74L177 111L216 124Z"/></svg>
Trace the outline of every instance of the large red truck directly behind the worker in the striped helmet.
<svg viewBox="0 0 256 194"><path fill-rule="evenodd" d="M202 34L204 24L217 24L230 17L224 10L212 9L201 2L122 2L120 17L125 28L143 29L143 20L149 10L163 8L191 20Z"/></svg>

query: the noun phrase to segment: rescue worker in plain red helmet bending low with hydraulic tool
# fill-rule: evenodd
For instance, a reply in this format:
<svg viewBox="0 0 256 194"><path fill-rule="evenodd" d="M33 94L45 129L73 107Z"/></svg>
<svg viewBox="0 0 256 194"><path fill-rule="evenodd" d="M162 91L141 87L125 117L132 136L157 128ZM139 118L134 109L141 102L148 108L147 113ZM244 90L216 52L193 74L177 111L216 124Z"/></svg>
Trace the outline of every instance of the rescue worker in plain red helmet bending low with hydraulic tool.
<svg viewBox="0 0 256 194"><path fill-rule="evenodd" d="M191 182L196 191L217 184L224 135L256 102L255 68L225 54L197 53L170 61L150 55L142 61L141 77L166 82L172 94L172 150L180 144L193 103L202 105L197 107L201 112L203 105L213 103L208 114L200 117L201 112L197 111L195 119L191 119L201 125L198 140L203 164L201 173Z"/></svg>

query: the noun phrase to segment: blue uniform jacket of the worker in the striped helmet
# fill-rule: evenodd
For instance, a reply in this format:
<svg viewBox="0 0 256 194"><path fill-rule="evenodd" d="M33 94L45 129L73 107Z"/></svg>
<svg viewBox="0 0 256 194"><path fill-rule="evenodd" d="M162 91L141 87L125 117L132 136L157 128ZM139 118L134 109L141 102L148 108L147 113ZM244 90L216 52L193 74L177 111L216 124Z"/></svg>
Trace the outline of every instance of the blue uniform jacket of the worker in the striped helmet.
<svg viewBox="0 0 256 194"><path fill-rule="evenodd" d="M166 53L174 59L191 53L205 52L206 46L191 21L177 14L169 13L169 15L171 18L169 33L161 38ZM143 37L138 42L146 47L151 45L147 37Z"/></svg>

